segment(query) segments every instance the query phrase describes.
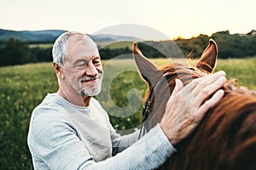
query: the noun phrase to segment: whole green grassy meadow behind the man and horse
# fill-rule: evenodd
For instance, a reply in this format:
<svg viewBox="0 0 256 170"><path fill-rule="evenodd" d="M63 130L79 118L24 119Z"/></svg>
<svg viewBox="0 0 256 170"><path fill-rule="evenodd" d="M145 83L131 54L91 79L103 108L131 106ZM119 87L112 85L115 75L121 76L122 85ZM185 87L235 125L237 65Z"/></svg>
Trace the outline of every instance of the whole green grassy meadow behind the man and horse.
<svg viewBox="0 0 256 170"><path fill-rule="evenodd" d="M169 62L151 60L156 65ZM102 94L96 98L108 111L113 127L120 133L134 131L141 123L141 104L148 86L131 59L103 60L103 64ZM228 79L236 78L241 86L256 89L255 65L256 57L218 59L216 71L224 70ZM58 89L55 71L51 63L0 67L0 82L0 168L32 169L26 145L30 116L46 94Z"/></svg>

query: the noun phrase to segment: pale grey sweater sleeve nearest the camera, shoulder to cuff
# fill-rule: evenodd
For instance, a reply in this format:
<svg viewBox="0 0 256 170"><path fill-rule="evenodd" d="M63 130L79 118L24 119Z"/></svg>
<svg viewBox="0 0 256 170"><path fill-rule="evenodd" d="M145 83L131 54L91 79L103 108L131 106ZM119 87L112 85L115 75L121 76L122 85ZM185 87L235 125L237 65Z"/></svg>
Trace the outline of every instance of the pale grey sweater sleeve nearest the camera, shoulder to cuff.
<svg viewBox="0 0 256 170"><path fill-rule="evenodd" d="M95 162L72 125L59 115L42 112L32 119L28 145L35 169L58 170L154 169L175 151L157 125L116 156Z"/></svg>

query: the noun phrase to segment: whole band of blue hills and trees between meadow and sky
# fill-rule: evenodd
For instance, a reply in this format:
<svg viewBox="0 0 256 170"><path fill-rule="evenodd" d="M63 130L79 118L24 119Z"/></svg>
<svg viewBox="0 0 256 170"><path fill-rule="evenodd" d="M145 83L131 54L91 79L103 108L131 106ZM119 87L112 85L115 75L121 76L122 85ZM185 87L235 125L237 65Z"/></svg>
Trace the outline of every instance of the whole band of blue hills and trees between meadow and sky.
<svg viewBox="0 0 256 170"><path fill-rule="evenodd" d="M17 56L22 55L20 57L20 59L23 59L22 63L26 63L26 60L29 60L29 62L49 61L51 59L49 56L51 56L52 44L63 32L65 31L9 31L0 29L0 65L15 65L12 62L15 59L17 60ZM189 39L177 38L175 40L162 41L143 41L137 37L107 34L89 36L96 42L102 59L112 59L121 54L131 54L134 41L139 43L138 45L142 49L143 54L148 58L179 58L184 56L200 58L210 38L214 39L218 44L218 58L256 57L255 30L246 34L230 34L230 31L218 31L212 33L211 36L201 34L198 37L191 37ZM9 39L10 37L14 38ZM5 41L7 42L3 43ZM44 46L46 43L49 46ZM19 54L20 52L24 53ZM29 59L26 59L26 56ZM3 59L2 61L1 58Z"/></svg>

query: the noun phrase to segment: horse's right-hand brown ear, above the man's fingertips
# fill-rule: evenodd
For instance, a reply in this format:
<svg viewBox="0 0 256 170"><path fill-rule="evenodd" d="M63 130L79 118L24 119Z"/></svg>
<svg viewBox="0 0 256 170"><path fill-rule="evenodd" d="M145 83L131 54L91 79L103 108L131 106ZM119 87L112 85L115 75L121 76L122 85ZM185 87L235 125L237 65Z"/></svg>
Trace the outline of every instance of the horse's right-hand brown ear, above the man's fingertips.
<svg viewBox="0 0 256 170"><path fill-rule="evenodd" d="M208 47L205 49L201 55L201 59L196 64L196 68L201 71L207 71L212 73L216 66L216 61L218 58L218 47L214 40L210 39Z"/></svg>

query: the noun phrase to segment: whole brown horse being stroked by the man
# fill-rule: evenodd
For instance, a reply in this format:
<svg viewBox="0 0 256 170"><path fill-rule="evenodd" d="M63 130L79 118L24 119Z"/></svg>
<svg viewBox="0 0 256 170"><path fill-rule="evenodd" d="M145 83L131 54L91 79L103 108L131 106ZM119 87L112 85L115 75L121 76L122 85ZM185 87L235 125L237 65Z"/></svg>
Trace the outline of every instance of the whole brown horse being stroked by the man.
<svg viewBox="0 0 256 170"><path fill-rule="evenodd" d="M184 85L212 73L218 48L213 40L195 66L170 64L158 69L133 46L137 69L148 82L143 110L144 133L160 122L175 79ZM207 111L195 132L177 144L163 169L256 169L256 93L240 88L236 81L224 85L224 98ZM144 134L143 133L143 134Z"/></svg>

